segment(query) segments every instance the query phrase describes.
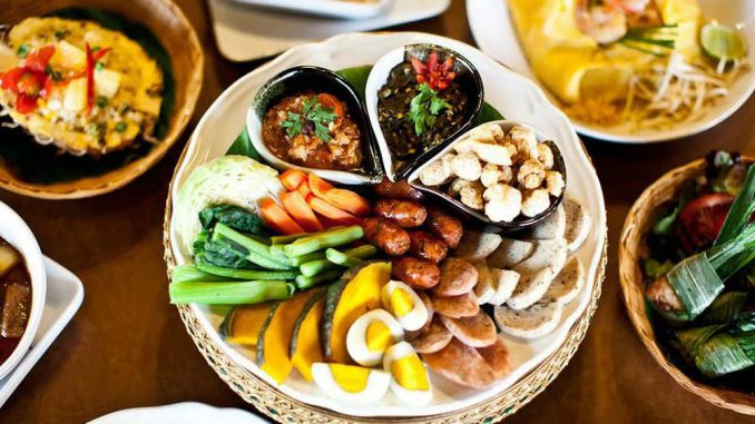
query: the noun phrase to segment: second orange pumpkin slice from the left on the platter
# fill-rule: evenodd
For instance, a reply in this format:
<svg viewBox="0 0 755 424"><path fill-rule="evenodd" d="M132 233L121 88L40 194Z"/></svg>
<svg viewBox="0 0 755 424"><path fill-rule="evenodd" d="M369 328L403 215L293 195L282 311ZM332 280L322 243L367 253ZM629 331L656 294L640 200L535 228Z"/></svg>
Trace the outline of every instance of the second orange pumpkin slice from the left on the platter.
<svg viewBox="0 0 755 424"><path fill-rule="evenodd" d="M259 329L257 365L278 384L288 377L293 368L288 349L296 318L316 293L317 290L308 290L288 300L276 303Z"/></svg>

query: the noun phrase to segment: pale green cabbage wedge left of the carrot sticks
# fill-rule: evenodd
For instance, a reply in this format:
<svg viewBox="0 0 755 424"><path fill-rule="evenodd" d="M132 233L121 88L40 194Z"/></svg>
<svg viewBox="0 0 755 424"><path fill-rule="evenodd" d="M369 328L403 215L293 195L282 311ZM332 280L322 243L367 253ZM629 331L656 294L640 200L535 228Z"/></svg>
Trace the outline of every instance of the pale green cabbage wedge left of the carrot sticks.
<svg viewBox="0 0 755 424"><path fill-rule="evenodd" d="M200 230L202 209L228 204L257 213L259 200L283 191L277 175L275 169L246 156L223 156L199 165L178 190L174 204L174 228L180 248L190 254Z"/></svg>

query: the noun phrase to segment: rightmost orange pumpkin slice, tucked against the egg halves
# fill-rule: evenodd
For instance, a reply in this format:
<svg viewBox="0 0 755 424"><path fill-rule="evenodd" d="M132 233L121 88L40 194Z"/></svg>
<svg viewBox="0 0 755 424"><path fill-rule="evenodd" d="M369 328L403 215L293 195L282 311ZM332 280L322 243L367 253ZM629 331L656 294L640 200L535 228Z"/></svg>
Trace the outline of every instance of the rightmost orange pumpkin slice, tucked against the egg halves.
<svg viewBox="0 0 755 424"><path fill-rule="evenodd" d="M352 268L327 287L320 337L323 356L352 364L346 352L349 328L366 312L381 307L380 292L391 279L391 263L376 262Z"/></svg>

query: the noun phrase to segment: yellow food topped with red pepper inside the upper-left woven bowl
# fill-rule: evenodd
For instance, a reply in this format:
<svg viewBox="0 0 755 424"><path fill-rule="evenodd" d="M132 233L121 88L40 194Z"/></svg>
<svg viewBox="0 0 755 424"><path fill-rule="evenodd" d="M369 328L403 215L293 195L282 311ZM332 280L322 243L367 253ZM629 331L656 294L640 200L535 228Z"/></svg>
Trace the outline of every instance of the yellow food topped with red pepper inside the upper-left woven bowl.
<svg viewBox="0 0 755 424"><path fill-rule="evenodd" d="M37 141L77 156L156 141L163 71L136 41L61 18L28 18L4 41L0 105Z"/></svg>

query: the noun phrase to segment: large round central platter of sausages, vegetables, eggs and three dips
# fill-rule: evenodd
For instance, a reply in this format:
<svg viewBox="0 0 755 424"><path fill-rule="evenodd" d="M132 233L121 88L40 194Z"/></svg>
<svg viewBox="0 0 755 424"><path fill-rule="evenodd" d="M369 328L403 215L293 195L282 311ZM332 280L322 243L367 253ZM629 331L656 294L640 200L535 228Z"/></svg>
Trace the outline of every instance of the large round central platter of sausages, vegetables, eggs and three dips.
<svg viewBox="0 0 755 424"><path fill-rule="evenodd" d="M442 37L345 34L202 118L167 201L169 293L275 418L498 418L581 341L605 219L535 85Z"/></svg>

